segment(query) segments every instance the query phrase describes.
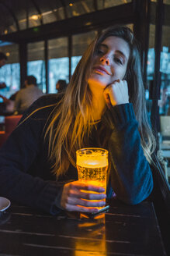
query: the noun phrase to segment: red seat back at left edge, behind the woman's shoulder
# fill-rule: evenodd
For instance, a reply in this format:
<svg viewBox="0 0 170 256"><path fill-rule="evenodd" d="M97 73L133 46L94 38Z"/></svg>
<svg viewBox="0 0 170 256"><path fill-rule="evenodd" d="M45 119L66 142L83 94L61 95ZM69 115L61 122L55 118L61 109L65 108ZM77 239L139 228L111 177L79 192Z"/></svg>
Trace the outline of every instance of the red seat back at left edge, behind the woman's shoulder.
<svg viewBox="0 0 170 256"><path fill-rule="evenodd" d="M0 147L5 143L9 135L16 128L22 115L19 116L5 116L5 131L0 131Z"/></svg>

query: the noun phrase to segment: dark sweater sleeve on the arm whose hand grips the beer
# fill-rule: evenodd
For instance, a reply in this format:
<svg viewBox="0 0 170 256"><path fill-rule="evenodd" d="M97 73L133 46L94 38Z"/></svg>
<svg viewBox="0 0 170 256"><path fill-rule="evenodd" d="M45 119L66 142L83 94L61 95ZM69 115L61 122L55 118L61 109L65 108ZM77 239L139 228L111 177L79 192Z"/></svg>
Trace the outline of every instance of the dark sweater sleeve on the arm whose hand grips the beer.
<svg viewBox="0 0 170 256"><path fill-rule="evenodd" d="M34 107L31 107L29 112L33 109ZM23 116L23 119L26 116ZM23 123L21 121L2 146L0 150L0 195L12 201L56 214L54 204L60 201L59 197L64 184L43 180L28 173L42 144L43 116L44 111L41 111L40 115L30 116Z"/></svg>

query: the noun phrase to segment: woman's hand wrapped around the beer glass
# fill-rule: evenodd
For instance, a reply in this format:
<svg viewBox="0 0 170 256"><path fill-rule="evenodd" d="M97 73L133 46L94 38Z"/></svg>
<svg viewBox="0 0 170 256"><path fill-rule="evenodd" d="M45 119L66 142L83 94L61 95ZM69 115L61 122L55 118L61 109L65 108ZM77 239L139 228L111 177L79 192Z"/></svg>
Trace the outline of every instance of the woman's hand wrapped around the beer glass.
<svg viewBox="0 0 170 256"><path fill-rule="evenodd" d="M88 193L89 190L98 193ZM103 192L102 187L78 180L66 183L61 195L61 207L69 212L98 212L96 207L102 207L106 204L106 194Z"/></svg>

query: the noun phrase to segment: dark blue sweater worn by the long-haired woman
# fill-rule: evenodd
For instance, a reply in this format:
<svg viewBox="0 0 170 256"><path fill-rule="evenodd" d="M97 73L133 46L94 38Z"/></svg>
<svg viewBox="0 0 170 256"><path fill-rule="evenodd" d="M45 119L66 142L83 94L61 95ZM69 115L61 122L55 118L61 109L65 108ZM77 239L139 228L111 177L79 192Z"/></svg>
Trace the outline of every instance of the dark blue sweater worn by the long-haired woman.
<svg viewBox="0 0 170 256"><path fill-rule="evenodd" d="M51 94L35 101L23 119L36 108L48 107L35 112L23 123L22 119L0 150L0 196L51 214L57 213L54 205L60 205L64 183L78 180L77 170L72 165L60 180L56 180L51 172L44 133L57 97ZM141 148L133 105L107 109L101 123L110 130L108 149L112 166L109 186L111 184L121 201L140 203L151 194L153 179ZM92 133L89 147L96 146L95 134ZM105 136L104 130L102 136Z"/></svg>

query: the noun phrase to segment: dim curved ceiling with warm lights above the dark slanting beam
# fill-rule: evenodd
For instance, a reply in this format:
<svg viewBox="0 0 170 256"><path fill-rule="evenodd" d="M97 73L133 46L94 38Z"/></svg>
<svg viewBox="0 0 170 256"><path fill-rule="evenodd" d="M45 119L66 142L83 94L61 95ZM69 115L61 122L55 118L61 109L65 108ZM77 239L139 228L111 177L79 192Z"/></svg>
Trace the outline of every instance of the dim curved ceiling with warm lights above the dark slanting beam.
<svg viewBox="0 0 170 256"><path fill-rule="evenodd" d="M130 0L0 0L0 35L80 16Z"/></svg>

